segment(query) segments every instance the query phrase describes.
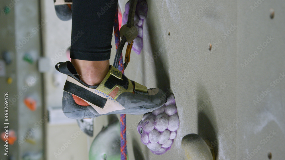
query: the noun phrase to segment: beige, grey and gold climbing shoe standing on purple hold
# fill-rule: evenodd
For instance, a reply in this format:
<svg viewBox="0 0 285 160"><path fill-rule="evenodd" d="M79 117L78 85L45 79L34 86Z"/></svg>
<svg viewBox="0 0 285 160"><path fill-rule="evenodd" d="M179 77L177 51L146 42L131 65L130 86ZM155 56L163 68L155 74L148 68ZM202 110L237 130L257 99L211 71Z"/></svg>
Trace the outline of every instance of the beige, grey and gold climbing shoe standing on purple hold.
<svg viewBox="0 0 285 160"><path fill-rule="evenodd" d="M55 68L68 75L63 89L62 110L71 119L117 113L140 115L161 107L166 101L162 90L147 89L129 80L112 65L98 86L82 82L70 61L59 62Z"/></svg>

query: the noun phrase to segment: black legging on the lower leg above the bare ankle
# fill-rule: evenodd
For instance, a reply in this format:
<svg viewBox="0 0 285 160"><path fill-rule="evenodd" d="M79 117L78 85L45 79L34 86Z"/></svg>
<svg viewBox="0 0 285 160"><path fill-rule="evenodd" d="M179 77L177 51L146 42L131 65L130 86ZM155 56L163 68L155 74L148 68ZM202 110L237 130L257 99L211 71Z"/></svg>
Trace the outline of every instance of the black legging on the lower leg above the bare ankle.
<svg viewBox="0 0 285 160"><path fill-rule="evenodd" d="M110 59L117 0L73 0L70 58Z"/></svg>

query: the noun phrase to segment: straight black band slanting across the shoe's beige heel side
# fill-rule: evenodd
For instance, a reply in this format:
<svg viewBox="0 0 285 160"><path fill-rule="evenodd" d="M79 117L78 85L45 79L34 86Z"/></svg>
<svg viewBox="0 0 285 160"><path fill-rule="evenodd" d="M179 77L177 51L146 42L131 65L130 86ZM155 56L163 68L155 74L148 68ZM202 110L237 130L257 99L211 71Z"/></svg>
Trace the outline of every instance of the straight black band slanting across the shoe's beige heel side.
<svg viewBox="0 0 285 160"><path fill-rule="evenodd" d="M97 105L102 109L104 108L107 101L107 99L69 81L65 82L63 90L71 94L74 94L82 99L85 99L86 101L94 105Z"/></svg>

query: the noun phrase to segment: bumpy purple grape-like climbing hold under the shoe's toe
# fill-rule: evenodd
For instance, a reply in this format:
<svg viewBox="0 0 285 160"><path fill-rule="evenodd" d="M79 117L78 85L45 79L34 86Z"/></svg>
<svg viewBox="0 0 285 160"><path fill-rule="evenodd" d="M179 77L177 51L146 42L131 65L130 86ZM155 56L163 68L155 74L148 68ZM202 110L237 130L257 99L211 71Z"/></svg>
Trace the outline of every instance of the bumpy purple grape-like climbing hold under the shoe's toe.
<svg viewBox="0 0 285 160"><path fill-rule="evenodd" d="M173 95L167 98L166 103L143 116L137 126L141 134L141 142L152 151L161 155L171 148L179 127L179 117Z"/></svg>

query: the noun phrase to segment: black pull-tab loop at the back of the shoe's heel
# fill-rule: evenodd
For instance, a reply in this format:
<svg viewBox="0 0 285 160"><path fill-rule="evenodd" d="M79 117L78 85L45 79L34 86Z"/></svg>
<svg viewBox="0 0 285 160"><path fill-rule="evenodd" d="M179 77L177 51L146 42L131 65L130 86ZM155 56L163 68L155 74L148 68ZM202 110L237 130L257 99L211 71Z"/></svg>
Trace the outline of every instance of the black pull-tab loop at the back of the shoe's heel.
<svg viewBox="0 0 285 160"><path fill-rule="evenodd" d="M66 62L59 62L55 65L55 69L58 70L60 73L66 74L74 79L76 79L78 82L80 82L80 78L72 65L70 61Z"/></svg>

